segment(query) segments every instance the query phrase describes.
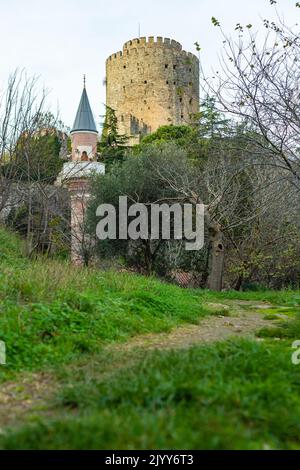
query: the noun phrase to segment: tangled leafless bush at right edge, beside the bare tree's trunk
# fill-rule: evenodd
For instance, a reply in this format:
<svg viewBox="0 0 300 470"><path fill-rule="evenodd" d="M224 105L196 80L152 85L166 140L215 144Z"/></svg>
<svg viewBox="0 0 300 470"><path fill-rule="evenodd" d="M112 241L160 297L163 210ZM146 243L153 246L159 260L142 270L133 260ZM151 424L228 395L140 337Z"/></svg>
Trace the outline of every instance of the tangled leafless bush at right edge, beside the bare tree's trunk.
<svg viewBox="0 0 300 470"><path fill-rule="evenodd" d="M300 194L276 168L262 167L257 177L263 183L251 201L257 217L242 230L226 234L227 285L237 290L253 282L278 289L297 286ZM268 210L260 211L261 207Z"/></svg>

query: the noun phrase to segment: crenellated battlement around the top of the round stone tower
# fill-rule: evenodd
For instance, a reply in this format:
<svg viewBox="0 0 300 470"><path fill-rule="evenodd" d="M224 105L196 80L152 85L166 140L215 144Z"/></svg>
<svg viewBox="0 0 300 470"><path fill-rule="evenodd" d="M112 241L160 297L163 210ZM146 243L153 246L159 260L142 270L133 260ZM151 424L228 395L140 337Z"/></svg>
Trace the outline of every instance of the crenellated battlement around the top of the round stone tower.
<svg viewBox="0 0 300 470"><path fill-rule="evenodd" d="M167 48L167 49L173 49L176 50L180 53L181 56L187 56L189 59L193 61L198 62L198 58L192 54L191 52L186 52L182 49L182 45L180 42L175 41L174 39L170 38L163 38L161 36L157 36L156 38L154 36L149 36L148 38L146 37L141 37L141 38L134 38L131 39L130 41L125 42L123 45L123 50L118 51L114 54L111 54L106 62L108 61L113 61L116 59L120 59L124 56L130 55L131 52L136 54L137 49L139 48Z"/></svg>

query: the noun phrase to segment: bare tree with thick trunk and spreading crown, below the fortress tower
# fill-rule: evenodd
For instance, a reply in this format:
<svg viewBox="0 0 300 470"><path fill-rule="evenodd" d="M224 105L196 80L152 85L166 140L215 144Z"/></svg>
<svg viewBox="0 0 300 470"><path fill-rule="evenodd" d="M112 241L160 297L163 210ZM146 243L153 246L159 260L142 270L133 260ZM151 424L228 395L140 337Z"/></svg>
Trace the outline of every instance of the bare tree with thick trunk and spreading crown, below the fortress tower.
<svg viewBox="0 0 300 470"><path fill-rule="evenodd" d="M207 287L221 290L228 240L234 231L244 230L258 218L264 218L276 198L283 194L278 183L285 175L279 174L278 169L271 172L269 167L262 172L250 157L236 161L226 148L223 151L218 148L201 169L191 166L188 160L178 161L171 156L163 167L156 162L152 163L153 178L176 194L172 200L166 198L168 202L204 205L209 237Z"/></svg>

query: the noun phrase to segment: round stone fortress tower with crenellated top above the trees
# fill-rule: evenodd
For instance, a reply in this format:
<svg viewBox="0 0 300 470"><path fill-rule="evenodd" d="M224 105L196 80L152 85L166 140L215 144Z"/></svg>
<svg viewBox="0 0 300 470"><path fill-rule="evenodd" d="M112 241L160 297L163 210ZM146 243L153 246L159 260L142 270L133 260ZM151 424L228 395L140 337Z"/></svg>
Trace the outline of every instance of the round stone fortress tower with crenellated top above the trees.
<svg viewBox="0 0 300 470"><path fill-rule="evenodd" d="M189 124L199 112L199 60L168 38L128 41L106 61L106 105L131 145L160 126Z"/></svg>

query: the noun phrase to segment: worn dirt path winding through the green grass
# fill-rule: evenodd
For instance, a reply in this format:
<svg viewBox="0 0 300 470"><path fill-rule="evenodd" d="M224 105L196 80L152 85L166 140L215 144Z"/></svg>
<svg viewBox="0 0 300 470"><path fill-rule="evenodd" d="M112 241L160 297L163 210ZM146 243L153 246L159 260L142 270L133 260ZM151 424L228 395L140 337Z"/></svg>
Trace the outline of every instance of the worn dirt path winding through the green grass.
<svg viewBox="0 0 300 470"><path fill-rule="evenodd" d="M222 304L207 304L214 312L213 315L200 319L197 325L184 325L177 327L169 333L141 335L132 338L126 343L108 346L111 352L133 352L129 354L132 360L134 349L172 349L188 348L208 342L226 340L230 337L254 337L255 331L274 324L264 319L264 308L268 304L256 305L254 302L229 301ZM137 355L138 356L138 355ZM122 356L123 362L118 360L117 367L128 365L126 354ZM81 367L87 369L89 374L91 359ZM97 363L97 357L92 359ZM71 364L67 367L78 367ZM91 371L92 372L92 371ZM5 426L22 421L29 413L48 413L48 401L61 384L50 373L22 373L18 381L6 382L0 385L0 432Z"/></svg>

